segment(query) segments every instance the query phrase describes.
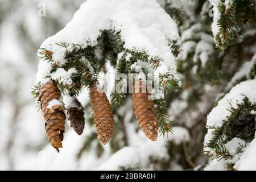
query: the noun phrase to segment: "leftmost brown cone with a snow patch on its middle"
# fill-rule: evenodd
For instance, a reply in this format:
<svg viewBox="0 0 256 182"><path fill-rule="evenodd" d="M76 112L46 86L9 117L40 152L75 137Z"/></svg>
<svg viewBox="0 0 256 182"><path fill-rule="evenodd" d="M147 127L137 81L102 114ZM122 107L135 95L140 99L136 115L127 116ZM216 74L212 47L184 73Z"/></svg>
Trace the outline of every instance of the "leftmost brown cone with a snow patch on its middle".
<svg viewBox="0 0 256 182"><path fill-rule="evenodd" d="M46 134L52 147L62 146L63 133L65 129L65 113L63 104L60 100L60 90L53 81L43 84L40 88L39 101L43 110Z"/></svg>

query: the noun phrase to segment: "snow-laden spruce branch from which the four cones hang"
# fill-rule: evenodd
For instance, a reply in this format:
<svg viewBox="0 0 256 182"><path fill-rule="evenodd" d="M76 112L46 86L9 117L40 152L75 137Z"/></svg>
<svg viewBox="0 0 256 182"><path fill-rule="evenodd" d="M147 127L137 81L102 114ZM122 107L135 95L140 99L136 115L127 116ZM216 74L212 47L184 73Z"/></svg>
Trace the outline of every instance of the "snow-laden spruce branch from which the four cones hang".
<svg viewBox="0 0 256 182"><path fill-rule="evenodd" d="M138 78L149 73L155 81L152 99L159 100L159 130L168 133L170 118L164 114L165 105L157 103L164 103L162 95L169 89L181 86L175 65L180 49L176 23L156 0L89 0L63 30L40 46L33 93L38 96L40 84L54 81L62 96L77 96L83 88L99 85L108 63L125 75L137 73L138 65ZM115 88L119 82L115 80ZM122 93L111 97L118 106L124 99Z"/></svg>

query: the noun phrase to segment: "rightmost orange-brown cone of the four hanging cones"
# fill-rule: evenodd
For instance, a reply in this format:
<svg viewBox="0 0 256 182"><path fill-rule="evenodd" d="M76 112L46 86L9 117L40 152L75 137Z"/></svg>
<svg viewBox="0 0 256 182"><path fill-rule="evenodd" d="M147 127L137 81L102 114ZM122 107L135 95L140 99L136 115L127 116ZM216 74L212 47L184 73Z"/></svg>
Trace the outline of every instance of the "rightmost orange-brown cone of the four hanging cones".
<svg viewBox="0 0 256 182"><path fill-rule="evenodd" d="M133 108L143 133L147 138L156 141L158 138L158 119L156 118L153 101L148 99L150 94L148 94L146 86L143 81L134 82ZM146 93L143 93L143 90Z"/></svg>

